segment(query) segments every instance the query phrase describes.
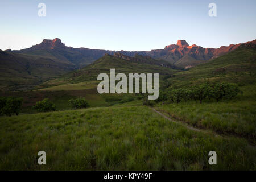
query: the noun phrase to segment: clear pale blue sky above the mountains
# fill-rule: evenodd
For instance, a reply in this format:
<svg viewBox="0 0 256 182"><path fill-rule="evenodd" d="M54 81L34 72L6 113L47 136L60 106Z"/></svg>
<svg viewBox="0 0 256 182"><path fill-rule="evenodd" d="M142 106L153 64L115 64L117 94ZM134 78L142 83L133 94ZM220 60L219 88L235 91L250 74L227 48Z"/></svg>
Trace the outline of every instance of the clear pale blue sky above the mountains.
<svg viewBox="0 0 256 182"><path fill-rule="evenodd" d="M46 16L38 16L45 3ZM217 16L210 17L209 3ZM0 49L23 49L43 39L65 46L150 51L187 40L218 48L256 39L256 1L0 0Z"/></svg>

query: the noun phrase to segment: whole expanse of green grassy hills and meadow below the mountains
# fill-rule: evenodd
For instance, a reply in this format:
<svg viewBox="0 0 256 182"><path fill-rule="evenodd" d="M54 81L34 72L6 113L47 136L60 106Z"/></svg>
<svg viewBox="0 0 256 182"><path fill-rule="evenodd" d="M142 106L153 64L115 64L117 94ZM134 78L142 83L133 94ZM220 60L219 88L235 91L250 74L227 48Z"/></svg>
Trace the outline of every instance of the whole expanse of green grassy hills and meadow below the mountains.
<svg viewBox="0 0 256 182"><path fill-rule="evenodd" d="M254 47L241 47L182 71L105 55L44 82L38 90L1 92L22 96L22 113L36 113L31 107L43 98L57 111L0 117L0 169L255 170L255 59ZM110 68L116 73L159 73L158 103L141 94L97 94L97 75ZM197 93L196 88L208 89L201 104L187 94ZM173 90L182 91L179 103L168 99ZM73 110L69 100L79 97L90 108ZM143 102L180 123L162 118ZM207 133L189 130L184 123ZM46 166L37 164L40 150L46 151ZM210 166L212 150L217 165Z"/></svg>

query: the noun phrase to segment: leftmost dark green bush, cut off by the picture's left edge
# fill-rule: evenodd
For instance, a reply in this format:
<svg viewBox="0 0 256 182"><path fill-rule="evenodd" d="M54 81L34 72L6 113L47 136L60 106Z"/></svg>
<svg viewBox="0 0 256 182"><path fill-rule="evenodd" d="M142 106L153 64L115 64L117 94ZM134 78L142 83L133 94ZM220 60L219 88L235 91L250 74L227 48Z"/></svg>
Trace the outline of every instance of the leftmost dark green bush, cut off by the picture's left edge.
<svg viewBox="0 0 256 182"><path fill-rule="evenodd" d="M22 98L1 97L0 98L0 114L11 116L12 114L19 115L20 107L22 106Z"/></svg>

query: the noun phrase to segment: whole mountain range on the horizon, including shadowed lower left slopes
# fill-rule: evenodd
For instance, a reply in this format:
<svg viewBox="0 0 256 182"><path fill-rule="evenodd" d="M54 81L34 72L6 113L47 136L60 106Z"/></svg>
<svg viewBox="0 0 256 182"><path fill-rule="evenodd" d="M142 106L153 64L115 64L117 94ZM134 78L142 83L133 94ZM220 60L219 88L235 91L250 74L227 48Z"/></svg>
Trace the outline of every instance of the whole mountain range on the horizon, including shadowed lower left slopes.
<svg viewBox="0 0 256 182"><path fill-rule="evenodd" d="M59 38L44 39L42 43L30 48L19 51L7 49L0 52L0 88L3 90L31 89L49 78L70 71L79 69L78 74L90 68L89 65L93 61L104 55L109 57L113 55L112 59L118 58L126 62L129 60L134 65L151 65L151 71L155 66L180 70L179 67L189 68L200 63L207 63L208 60L225 55L239 47L253 48L255 42L256 40L253 40L244 44L231 44L215 49L203 48L195 44L189 46L185 40L178 40L177 44L152 51L108 51L67 47ZM118 63L121 64L121 62ZM84 69L86 65L89 67ZM106 67L106 65L100 65ZM142 67L141 71L143 71ZM156 69L156 71L160 70Z"/></svg>

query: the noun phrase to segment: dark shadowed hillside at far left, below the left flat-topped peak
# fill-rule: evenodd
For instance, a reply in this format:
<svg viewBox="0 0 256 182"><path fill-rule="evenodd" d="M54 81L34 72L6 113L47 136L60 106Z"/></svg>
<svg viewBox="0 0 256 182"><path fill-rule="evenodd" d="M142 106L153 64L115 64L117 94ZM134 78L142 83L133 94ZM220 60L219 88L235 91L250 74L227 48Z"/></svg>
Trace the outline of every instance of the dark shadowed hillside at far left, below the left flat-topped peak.
<svg viewBox="0 0 256 182"><path fill-rule="evenodd" d="M0 50L1 90L28 90L54 76L72 71L75 65L53 56L28 55Z"/></svg>

